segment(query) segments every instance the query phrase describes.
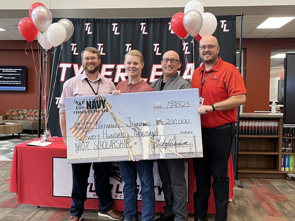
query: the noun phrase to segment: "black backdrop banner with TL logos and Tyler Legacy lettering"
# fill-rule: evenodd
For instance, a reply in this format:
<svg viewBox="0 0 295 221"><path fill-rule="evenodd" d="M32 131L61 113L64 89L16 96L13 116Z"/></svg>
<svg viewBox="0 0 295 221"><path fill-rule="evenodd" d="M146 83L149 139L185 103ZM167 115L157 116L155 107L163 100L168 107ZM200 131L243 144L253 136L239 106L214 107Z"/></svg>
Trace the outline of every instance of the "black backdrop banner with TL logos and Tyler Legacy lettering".
<svg viewBox="0 0 295 221"><path fill-rule="evenodd" d="M236 15L216 16L217 28L214 36L220 45L222 60L236 65ZM59 19L54 18L53 22ZM194 39L194 47L188 37L185 45L171 29L171 18L129 18L129 19L69 19L74 25L74 34L67 42L57 47L55 55L50 55L49 102L52 99L47 127L52 136L61 137L58 101L63 91L63 83L83 72L81 52L86 47L96 47L101 55L99 72L115 85L126 80L124 55L136 49L143 55L145 66L141 77L152 83L162 75L161 59L168 50L178 53L182 63L179 75L189 80L194 69L200 64L199 42ZM194 49L193 49L194 48ZM51 49L54 52L55 48ZM194 53L193 53L194 52ZM59 58L60 56L60 58ZM185 62L187 58L187 66ZM50 71L51 73L51 71ZM57 73L57 74L56 74ZM56 79L55 79L56 76ZM51 76L50 76L51 78Z"/></svg>

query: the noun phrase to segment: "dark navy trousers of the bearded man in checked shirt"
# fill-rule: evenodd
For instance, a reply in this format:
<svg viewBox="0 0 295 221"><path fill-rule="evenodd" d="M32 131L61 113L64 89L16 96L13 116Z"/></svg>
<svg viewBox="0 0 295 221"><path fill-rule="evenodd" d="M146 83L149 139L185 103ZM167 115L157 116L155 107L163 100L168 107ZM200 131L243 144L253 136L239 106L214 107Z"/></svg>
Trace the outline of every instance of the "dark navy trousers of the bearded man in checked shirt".
<svg viewBox="0 0 295 221"><path fill-rule="evenodd" d="M92 163L72 164L73 188L71 216L81 217L84 212L84 202L87 199L88 177ZM112 162L93 163L95 193L99 199L99 211L112 210L112 194L109 175Z"/></svg>

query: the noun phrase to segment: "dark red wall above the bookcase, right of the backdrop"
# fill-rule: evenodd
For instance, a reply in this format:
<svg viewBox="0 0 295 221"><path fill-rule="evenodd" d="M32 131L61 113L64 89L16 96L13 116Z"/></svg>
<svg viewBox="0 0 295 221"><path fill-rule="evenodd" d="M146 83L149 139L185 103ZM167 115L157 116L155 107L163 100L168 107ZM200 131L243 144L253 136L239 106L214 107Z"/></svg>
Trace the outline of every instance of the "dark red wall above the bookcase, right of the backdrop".
<svg viewBox="0 0 295 221"><path fill-rule="evenodd" d="M237 39L239 48L240 39ZM247 89L245 111L268 111L271 49L294 49L295 38L243 38L242 48L246 49L244 80Z"/></svg>

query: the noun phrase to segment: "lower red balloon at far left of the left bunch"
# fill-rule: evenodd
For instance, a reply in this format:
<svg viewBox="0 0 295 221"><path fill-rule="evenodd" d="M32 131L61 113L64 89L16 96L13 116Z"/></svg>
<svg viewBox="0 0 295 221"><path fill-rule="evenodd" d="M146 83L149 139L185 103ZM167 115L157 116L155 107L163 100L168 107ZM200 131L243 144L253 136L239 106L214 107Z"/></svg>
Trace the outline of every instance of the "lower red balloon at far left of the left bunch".
<svg viewBox="0 0 295 221"><path fill-rule="evenodd" d="M34 41L38 34L38 30L32 22L31 18L23 18L19 21L18 29L22 37L27 41Z"/></svg>

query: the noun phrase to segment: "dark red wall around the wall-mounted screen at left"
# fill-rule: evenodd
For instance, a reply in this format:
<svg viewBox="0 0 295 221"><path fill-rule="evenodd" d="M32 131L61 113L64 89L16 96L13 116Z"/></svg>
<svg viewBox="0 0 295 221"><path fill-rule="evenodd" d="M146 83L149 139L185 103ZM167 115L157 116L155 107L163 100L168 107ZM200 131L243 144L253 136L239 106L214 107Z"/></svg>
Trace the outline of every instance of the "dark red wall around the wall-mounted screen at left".
<svg viewBox="0 0 295 221"><path fill-rule="evenodd" d="M39 107L39 83L30 43L26 50L27 55L26 47L27 41L25 40L0 41L0 65L24 65L27 75L26 91L0 91L0 115L6 114L6 109L38 109ZM39 77L37 40L32 43L32 48Z"/></svg>

